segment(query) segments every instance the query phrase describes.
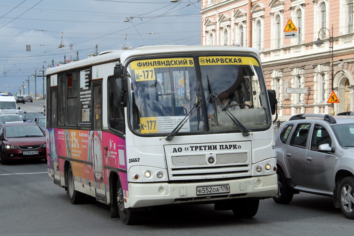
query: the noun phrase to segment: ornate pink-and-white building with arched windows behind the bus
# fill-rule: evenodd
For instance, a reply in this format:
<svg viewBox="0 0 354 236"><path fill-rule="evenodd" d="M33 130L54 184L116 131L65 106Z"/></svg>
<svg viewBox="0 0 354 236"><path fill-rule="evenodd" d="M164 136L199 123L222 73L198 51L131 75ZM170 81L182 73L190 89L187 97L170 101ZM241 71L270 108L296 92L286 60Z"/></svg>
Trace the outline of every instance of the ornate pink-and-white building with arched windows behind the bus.
<svg viewBox="0 0 354 236"><path fill-rule="evenodd" d="M353 0L202 0L201 15L203 45L258 50L268 89L282 101L280 120L331 114L326 102L332 80L340 102L334 104L335 114L354 110ZM284 32L289 19L297 31ZM302 88L302 93L286 88Z"/></svg>

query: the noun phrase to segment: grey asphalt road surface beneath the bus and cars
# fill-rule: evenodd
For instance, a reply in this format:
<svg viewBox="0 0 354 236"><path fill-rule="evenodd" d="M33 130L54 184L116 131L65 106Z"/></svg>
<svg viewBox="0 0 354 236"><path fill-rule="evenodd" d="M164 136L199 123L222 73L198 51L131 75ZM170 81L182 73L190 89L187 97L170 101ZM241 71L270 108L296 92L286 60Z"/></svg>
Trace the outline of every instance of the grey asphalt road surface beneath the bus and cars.
<svg viewBox="0 0 354 236"><path fill-rule="evenodd" d="M42 104L22 107L40 110ZM345 236L354 230L354 221L333 207L332 198L305 193L295 195L288 205L261 200L251 219L236 219L232 211L215 211L213 205L162 206L145 217L141 225L129 226L111 219L110 208L103 203L70 204L64 189L48 176L43 160L0 165L1 236Z"/></svg>

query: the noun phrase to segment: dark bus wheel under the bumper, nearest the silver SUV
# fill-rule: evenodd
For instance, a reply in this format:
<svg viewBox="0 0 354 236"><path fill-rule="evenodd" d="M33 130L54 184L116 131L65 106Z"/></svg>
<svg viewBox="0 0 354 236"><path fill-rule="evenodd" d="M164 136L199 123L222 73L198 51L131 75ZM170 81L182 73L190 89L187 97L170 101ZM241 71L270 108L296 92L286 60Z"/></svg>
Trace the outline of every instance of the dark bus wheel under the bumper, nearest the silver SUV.
<svg viewBox="0 0 354 236"><path fill-rule="evenodd" d="M238 198L234 200L232 212L236 218L251 218L257 214L259 199Z"/></svg>

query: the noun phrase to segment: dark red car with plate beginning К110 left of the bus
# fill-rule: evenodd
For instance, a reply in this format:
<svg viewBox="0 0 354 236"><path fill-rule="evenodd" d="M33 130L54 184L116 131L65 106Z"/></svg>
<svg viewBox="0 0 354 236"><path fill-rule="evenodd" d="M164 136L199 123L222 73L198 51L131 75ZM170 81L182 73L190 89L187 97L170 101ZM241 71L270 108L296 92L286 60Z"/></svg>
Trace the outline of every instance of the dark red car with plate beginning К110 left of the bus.
<svg viewBox="0 0 354 236"><path fill-rule="evenodd" d="M47 158L45 133L35 123L5 123L0 126L0 161Z"/></svg>

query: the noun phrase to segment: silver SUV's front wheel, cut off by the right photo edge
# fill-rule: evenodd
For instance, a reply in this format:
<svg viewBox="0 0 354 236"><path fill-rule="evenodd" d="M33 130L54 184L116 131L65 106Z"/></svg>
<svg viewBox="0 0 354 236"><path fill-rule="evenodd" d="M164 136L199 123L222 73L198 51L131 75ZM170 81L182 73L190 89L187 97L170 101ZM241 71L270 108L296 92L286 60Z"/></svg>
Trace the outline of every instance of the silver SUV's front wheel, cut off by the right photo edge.
<svg viewBox="0 0 354 236"><path fill-rule="evenodd" d="M342 179L338 190L339 207L343 215L354 219L354 177Z"/></svg>

